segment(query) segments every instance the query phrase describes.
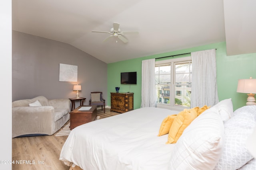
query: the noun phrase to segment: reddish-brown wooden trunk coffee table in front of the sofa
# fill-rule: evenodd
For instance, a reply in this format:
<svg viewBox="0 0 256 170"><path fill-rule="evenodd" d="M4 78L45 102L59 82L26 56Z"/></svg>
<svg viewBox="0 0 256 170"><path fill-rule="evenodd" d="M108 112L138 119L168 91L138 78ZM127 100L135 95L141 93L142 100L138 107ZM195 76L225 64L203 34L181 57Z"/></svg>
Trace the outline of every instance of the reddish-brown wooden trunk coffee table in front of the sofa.
<svg viewBox="0 0 256 170"><path fill-rule="evenodd" d="M89 110L78 110L81 107L91 107ZM75 127L94 121L97 117L97 106L79 106L70 112L70 130Z"/></svg>

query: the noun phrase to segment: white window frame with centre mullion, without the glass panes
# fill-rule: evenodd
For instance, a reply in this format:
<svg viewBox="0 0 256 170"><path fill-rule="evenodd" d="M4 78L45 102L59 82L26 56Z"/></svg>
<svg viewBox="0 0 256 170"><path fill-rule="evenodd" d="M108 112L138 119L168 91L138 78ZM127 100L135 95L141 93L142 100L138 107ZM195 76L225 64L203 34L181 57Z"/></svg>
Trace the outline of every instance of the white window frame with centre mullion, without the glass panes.
<svg viewBox="0 0 256 170"><path fill-rule="evenodd" d="M191 62L191 56L189 57L180 57L180 58L174 58L174 59L167 59L167 60L161 60L161 61L156 61L156 65L162 65L162 64L171 64L171 84L170 84L170 98L174 99L175 98L175 66L174 63L177 62L184 62L184 61L190 61ZM173 75L174 74L174 75ZM183 84L182 84L183 85ZM157 107L159 108L164 108L164 109L171 109L171 110L177 110L177 111L182 111L183 109L189 109L189 107L185 106L175 106L174 100L172 100L172 103L170 104L161 104L157 103Z"/></svg>

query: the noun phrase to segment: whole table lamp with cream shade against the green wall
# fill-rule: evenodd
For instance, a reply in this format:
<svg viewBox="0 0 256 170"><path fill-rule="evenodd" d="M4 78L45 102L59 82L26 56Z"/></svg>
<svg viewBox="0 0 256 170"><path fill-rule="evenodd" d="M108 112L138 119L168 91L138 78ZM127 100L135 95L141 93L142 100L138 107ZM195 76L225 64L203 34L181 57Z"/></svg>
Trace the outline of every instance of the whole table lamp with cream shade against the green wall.
<svg viewBox="0 0 256 170"><path fill-rule="evenodd" d="M256 79L240 79L238 80L238 86L236 92L247 93L248 98L246 105L256 105L254 94L256 94Z"/></svg>

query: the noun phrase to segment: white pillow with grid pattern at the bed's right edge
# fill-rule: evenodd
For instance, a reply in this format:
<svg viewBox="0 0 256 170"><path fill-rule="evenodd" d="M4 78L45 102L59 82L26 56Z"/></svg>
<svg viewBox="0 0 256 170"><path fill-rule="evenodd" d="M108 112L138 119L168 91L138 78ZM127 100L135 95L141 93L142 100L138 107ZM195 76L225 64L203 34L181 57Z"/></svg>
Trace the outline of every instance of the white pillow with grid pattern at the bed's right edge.
<svg viewBox="0 0 256 170"><path fill-rule="evenodd" d="M256 124L256 106L244 106L224 123L225 141L222 156L215 170L236 170L253 157L246 149L246 140Z"/></svg>

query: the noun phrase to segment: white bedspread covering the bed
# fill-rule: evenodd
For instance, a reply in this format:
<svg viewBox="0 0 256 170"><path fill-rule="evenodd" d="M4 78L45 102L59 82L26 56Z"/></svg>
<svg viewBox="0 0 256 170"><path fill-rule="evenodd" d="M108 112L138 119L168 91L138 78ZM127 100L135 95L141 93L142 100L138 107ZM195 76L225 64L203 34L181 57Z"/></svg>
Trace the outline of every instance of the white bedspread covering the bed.
<svg viewBox="0 0 256 170"><path fill-rule="evenodd" d="M175 144L157 137L167 115L178 111L144 107L74 128L60 153L83 170L167 170Z"/></svg>

